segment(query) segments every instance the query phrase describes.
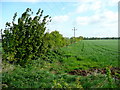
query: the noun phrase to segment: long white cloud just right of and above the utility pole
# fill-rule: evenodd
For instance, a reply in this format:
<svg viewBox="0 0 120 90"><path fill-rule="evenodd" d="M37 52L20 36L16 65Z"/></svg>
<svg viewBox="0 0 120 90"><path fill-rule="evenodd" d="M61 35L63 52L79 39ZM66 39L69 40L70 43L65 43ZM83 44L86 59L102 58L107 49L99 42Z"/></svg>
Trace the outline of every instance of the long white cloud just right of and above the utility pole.
<svg viewBox="0 0 120 90"><path fill-rule="evenodd" d="M99 24L105 26L109 24L117 24L118 13L107 10L106 12L96 13L92 16L78 16L76 17L77 25Z"/></svg>

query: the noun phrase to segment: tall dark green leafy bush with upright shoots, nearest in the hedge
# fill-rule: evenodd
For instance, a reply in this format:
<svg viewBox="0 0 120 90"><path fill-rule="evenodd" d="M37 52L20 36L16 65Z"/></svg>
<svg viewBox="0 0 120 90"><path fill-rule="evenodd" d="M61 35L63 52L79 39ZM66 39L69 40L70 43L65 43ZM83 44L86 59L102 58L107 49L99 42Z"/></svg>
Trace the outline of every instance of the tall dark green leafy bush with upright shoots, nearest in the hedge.
<svg viewBox="0 0 120 90"><path fill-rule="evenodd" d="M39 9L34 18L33 12L27 8L15 23L17 13L13 17L12 23L6 23L6 28L2 33L3 60L11 63L25 65L32 59L45 53L44 36L46 24L51 21L49 15L43 16L43 10Z"/></svg>

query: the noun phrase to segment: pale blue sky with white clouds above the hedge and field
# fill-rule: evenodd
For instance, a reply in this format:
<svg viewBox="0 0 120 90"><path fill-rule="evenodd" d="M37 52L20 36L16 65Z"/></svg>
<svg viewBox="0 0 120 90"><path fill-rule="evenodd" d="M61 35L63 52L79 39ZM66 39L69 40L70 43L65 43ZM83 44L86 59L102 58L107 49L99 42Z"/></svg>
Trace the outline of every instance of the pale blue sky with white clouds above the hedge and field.
<svg viewBox="0 0 120 90"><path fill-rule="evenodd" d="M43 2L44 1L44 2ZM1 0L0 29L12 22L14 13L19 18L26 8L35 14L39 8L49 15L47 31L59 31L64 37L118 37L119 0ZM32 15L34 17L34 15ZM17 23L17 19L16 19Z"/></svg>

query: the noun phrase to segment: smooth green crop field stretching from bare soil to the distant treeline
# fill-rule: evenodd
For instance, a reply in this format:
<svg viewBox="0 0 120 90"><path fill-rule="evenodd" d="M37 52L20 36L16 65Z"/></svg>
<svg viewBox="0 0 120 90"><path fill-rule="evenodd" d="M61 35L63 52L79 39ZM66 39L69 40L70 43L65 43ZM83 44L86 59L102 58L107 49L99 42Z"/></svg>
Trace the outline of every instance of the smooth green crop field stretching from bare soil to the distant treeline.
<svg viewBox="0 0 120 90"><path fill-rule="evenodd" d="M118 40L83 40L64 47L62 50L78 58L78 60L74 58L73 61L80 65L76 68L82 65L86 66L85 68L118 66Z"/></svg>

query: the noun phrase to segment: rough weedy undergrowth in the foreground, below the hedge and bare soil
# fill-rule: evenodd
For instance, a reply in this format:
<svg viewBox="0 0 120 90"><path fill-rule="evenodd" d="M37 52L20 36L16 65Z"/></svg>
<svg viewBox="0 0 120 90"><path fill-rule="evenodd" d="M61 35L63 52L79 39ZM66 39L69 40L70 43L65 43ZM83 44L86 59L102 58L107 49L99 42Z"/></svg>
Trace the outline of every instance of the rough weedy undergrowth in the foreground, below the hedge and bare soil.
<svg viewBox="0 0 120 90"><path fill-rule="evenodd" d="M33 60L25 67L3 62L3 88L118 88L115 80L107 76L108 74L69 75L66 71L67 63L66 65L63 63L66 55L57 52L59 51L48 53L49 57L44 60L41 58ZM68 63L68 67L70 66L72 67Z"/></svg>

